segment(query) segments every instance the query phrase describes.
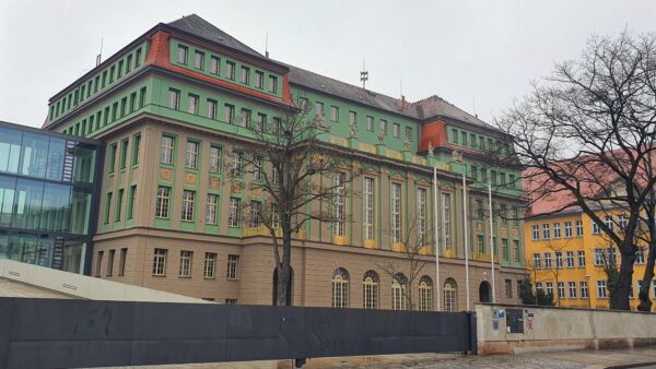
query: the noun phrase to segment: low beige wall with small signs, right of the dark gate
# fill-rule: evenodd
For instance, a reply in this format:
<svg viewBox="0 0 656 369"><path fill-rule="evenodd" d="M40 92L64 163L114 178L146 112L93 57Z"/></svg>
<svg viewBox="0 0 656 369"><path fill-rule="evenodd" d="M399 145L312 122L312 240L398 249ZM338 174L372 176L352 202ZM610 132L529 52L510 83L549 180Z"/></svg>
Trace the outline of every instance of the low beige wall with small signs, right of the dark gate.
<svg viewBox="0 0 656 369"><path fill-rule="evenodd" d="M522 310L524 333L509 332L513 309ZM476 312L481 355L656 344L653 313L513 305L477 305Z"/></svg>

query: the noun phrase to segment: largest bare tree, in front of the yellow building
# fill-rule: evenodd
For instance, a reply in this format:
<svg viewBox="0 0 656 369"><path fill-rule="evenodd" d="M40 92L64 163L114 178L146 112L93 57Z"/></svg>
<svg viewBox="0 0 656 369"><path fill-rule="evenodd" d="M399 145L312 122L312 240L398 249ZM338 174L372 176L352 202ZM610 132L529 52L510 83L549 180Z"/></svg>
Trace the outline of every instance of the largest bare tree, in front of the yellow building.
<svg viewBox="0 0 656 369"><path fill-rule="evenodd" d="M591 37L497 126L526 168L528 205L558 200L540 215L579 207L618 248L610 307L630 309L637 223L656 183L656 35ZM618 209L628 216L622 233L605 222Z"/></svg>

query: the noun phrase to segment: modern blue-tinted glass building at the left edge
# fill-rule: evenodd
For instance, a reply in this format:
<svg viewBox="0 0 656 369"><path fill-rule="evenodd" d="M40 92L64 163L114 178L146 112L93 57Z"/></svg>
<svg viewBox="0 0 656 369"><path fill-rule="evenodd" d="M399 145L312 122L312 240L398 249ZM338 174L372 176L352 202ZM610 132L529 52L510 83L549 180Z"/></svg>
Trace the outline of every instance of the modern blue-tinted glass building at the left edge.
<svg viewBox="0 0 656 369"><path fill-rule="evenodd" d="M89 274L103 146L0 121L0 259Z"/></svg>

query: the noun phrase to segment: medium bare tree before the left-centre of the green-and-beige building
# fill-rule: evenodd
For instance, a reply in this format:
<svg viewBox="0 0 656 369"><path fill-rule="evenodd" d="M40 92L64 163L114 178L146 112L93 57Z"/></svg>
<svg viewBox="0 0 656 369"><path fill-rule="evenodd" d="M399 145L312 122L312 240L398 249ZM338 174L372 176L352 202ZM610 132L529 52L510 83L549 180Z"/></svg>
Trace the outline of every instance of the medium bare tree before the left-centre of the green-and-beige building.
<svg viewBox="0 0 656 369"><path fill-rule="evenodd" d="M244 174L251 178L247 190L256 195L238 216L250 227L263 227L270 237L276 305L288 305L292 238L311 221L345 227L345 207L336 204L349 197L351 169L320 140L328 130L319 115L309 117L305 109L289 109L270 121L245 120L254 142L248 152L235 148L231 153L226 178L235 181Z"/></svg>

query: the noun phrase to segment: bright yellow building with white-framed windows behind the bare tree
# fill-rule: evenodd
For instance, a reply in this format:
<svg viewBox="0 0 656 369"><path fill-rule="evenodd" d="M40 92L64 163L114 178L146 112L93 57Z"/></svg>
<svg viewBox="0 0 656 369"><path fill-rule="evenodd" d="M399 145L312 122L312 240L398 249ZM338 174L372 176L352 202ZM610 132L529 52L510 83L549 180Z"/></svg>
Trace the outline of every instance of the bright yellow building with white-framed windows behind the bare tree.
<svg viewBox="0 0 656 369"><path fill-rule="evenodd" d="M547 213L549 205L534 204L532 212ZM617 211L600 217L613 227L621 227L628 215ZM619 265L620 253L588 215L581 210L571 210L538 216L527 219L524 229L527 269L534 288L552 291L557 306L608 309L604 265L611 258L616 258L616 265ZM632 310L640 303L637 294L645 263L645 248L641 247L633 270ZM654 298L656 282L649 289L649 297Z"/></svg>

